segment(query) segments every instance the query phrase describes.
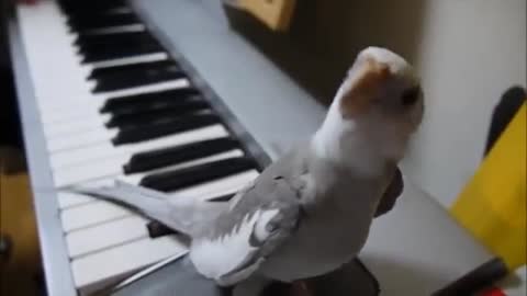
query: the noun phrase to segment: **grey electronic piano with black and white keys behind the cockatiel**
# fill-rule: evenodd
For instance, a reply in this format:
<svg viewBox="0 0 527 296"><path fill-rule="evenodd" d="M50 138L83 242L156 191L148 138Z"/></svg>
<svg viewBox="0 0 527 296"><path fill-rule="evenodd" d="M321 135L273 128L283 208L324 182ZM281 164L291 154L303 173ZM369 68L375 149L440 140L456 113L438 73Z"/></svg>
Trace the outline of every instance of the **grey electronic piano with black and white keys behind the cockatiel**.
<svg viewBox="0 0 527 296"><path fill-rule="evenodd" d="M322 123L325 107L205 2L15 7L11 57L48 295L90 295L187 252L175 235L150 236L148 219L64 189L123 180L225 201ZM429 294L490 258L405 185L361 255L381 295ZM437 231L441 248L423 240ZM439 276L397 284L408 280L383 257L416 262L411 277L431 266Z"/></svg>

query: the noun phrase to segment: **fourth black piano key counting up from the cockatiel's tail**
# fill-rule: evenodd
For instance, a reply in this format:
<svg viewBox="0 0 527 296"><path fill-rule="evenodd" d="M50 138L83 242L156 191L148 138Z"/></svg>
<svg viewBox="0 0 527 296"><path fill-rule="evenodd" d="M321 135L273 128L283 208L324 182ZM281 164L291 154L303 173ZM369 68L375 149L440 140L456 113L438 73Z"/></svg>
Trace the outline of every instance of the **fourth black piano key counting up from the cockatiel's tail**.
<svg viewBox="0 0 527 296"><path fill-rule="evenodd" d="M144 125L155 123L159 121L159 118L175 118L187 114L206 111L211 111L211 109L205 101L194 101L187 104L153 104L152 106L148 106L148 109L126 109L119 111L110 117L105 123L105 126L125 127Z"/></svg>

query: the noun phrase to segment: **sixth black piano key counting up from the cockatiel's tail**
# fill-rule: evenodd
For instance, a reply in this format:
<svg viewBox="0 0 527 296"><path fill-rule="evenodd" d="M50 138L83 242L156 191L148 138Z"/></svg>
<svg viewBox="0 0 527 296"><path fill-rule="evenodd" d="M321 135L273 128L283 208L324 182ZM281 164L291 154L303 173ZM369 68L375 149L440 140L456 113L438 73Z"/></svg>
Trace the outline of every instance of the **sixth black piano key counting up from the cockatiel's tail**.
<svg viewBox="0 0 527 296"><path fill-rule="evenodd" d="M186 73L176 65L152 67L143 71L109 75L97 79L93 93L135 88L150 83L184 78Z"/></svg>

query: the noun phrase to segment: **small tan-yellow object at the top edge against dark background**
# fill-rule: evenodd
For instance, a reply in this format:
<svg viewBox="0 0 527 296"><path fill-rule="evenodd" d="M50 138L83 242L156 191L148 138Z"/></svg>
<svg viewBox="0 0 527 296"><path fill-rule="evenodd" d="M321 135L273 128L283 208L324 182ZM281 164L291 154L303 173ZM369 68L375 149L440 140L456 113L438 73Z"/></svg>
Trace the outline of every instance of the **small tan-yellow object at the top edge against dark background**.
<svg viewBox="0 0 527 296"><path fill-rule="evenodd" d="M287 31L291 23L296 0L238 0L238 7L247 10L274 31Z"/></svg>

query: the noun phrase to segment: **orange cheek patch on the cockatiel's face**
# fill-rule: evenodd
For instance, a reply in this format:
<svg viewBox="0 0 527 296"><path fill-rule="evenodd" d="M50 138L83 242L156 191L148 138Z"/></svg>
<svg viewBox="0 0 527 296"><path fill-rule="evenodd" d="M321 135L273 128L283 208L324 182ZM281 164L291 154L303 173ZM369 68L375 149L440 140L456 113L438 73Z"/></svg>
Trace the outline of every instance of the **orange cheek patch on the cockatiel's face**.
<svg viewBox="0 0 527 296"><path fill-rule="evenodd" d="M340 101L340 113L344 117L354 117L370 109L379 87L389 78L390 69L385 64L369 58L357 76Z"/></svg>

